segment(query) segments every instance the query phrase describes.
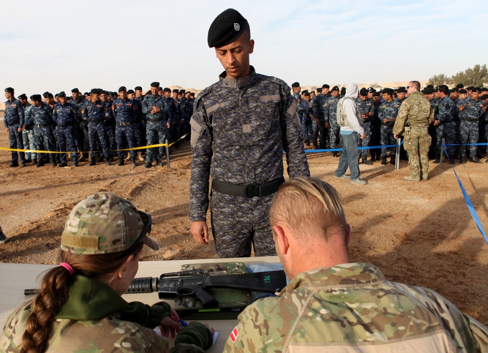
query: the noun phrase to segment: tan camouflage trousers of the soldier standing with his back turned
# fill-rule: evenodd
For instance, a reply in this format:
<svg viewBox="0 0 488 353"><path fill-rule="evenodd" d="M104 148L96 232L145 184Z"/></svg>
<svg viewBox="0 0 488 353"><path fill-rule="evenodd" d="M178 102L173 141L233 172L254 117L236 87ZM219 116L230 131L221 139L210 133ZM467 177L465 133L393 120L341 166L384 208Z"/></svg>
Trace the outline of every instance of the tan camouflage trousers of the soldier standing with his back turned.
<svg viewBox="0 0 488 353"><path fill-rule="evenodd" d="M408 134L405 133L403 145L408 152L408 166L412 178L418 178L420 172L427 175L428 148L431 142L432 138L428 134L427 126L425 128L412 127Z"/></svg>

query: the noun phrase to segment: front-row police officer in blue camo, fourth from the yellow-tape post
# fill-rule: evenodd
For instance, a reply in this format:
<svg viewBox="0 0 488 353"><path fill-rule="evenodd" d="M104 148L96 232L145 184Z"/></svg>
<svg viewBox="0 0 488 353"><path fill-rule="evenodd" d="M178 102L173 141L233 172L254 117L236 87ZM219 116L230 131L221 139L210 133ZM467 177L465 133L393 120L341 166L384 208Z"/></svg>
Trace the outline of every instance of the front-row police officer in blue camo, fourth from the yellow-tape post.
<svg viewBox="0 0 488 353"><path fill-rule="evenodd" d="M66 93L58 93L60 103L54 104L53 120L56 123L56 133L58 134L58 144L60 150L72 152L73 166L78 166L78 153L76 153L75 131L73 125L76 124L75 111L73 104L67 103ZM66 153L60 155L61 163L59 167L67 166Z"/></svg>

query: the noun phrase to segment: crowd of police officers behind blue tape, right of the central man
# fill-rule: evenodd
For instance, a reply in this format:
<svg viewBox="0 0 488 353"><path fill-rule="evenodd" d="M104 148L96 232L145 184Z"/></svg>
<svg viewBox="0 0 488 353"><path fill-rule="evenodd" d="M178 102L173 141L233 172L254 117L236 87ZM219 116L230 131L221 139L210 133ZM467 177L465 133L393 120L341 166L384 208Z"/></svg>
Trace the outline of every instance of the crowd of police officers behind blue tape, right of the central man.
<svg viewBox="0 0 488 353"><path fill-rule="evenodd" d="M308 92L302 90L300 83L292 84L293 96L297 100L297 112L302 124L302 138L305 145L315 149L336 149L340 140L340 126L337 124L337 102L346 93L344 87L330 88L328 84ZM464 87L462 83L449 89L447 85L434 88L427 85L421 91L430 102L434 114L433 123L429 126L432 144L429 158L440 163L442 139L445 139L447 158L450 164L454 159L466 163L467 150L469 161L481 163L478 158L486 154L486 146L475 144L486 143L488 137L488 88ZM372 165L380 161L387 165L387 153L390 151L389 163L395 164L396 139L393 125L398 109L408 97L406 87L396 89L362 88L356 100L364 120L366 138L359 140L358 147L382 146L381 148L362 149L362 163ZM318 140L318 141L317 141ZM342 144L341 144L342 145ZM477 148L478 147L478 148ZM368 154L371 158L368 160ZM338 157L339 153L333 151ZM488 163L488 155L487 163ZM402 159L408 159L402 148Z"/></svg>

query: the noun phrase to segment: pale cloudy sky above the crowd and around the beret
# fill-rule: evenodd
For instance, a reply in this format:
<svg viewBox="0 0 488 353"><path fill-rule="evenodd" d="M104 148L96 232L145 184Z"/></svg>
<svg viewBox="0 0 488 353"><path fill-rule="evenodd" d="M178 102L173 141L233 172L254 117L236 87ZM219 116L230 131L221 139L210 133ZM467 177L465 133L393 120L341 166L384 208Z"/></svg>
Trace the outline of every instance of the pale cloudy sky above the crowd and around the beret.
<svg viewBox="0 0 488 353"><path fill-rule="evenodd" d="M0 85L20 93L204 87L223 71L207 30L233 7L255 40L251 64L289 85L395 82L486 63L488 2L5 1Z"/></svg>

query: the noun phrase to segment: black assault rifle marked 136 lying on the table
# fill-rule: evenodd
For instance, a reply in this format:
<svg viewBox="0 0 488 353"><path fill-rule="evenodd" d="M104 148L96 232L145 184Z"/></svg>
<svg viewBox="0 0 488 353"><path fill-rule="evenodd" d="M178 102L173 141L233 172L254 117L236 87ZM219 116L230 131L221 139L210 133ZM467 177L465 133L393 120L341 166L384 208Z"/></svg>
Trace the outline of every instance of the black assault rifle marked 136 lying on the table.
<svg viewBox="0 0 488 353"><path fill-rule="evenodd" d="M193 269L163 273L158 277L134 278L124 294L152 293L157 291L160 299L177 300L183 296L195 295L203 309L216 308L217 299L208 293L210 288L237 289L275 293L286 286L283 270L226 275L210 275L211 272ZM39 290L24 290L25 295L38 294Z"/></svg>

